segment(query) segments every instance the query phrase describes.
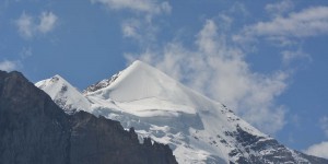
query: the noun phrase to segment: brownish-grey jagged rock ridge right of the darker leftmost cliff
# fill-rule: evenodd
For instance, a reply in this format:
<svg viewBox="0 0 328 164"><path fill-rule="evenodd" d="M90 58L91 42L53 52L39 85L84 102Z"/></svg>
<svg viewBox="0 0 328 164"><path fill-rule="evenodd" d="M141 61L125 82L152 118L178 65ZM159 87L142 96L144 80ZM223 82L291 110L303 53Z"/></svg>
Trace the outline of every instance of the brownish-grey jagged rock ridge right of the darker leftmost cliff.
<svg viewBox="0 0 328 164"><path fill-rule="evenodd" d="M134 130L124 130L118 121L80 112L71 116L70 122L73 164L176 163L168 145L152 144L149 139L139 144Z"/></svg>

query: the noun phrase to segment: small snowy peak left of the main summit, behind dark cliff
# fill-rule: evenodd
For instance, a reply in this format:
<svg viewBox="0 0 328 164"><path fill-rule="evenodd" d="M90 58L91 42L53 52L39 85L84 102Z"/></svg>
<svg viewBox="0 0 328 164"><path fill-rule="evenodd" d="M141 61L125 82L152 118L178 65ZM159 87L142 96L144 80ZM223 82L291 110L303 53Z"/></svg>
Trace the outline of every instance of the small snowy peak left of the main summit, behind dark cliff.
<svg viewBox="0 0 328 164"><path fill-rule="evenodd" d="M87 110L90 108L89 101L59 74L39 81L35 83L35 85L44 90L57 105L69 114L81 109Z"/></svg>

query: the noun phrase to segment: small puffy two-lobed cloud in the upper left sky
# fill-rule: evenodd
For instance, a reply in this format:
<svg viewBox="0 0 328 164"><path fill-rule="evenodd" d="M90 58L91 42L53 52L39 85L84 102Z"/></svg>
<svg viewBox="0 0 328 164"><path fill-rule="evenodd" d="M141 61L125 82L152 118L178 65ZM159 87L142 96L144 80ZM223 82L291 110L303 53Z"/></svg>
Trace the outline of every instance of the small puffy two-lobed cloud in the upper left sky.
<svg viewBox="0 0 328 164"><path fill-rule="evenodd" d="M35 17L23 12L21 16L15 21L15 25L19 28L19 33L24 38L32 38L36 34L46 34L54 30L58 22L58 17L52 12L42 12L38 22L35 22Z"/></svg>

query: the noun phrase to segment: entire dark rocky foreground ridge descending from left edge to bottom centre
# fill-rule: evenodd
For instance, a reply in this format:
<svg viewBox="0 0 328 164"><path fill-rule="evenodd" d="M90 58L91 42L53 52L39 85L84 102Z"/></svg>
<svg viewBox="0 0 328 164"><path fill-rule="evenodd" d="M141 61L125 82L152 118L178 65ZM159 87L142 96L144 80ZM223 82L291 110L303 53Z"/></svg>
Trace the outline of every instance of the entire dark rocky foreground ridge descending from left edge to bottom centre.
<svg viewBox="0 0 328 164"><path fill-rule="evenodd" d="M68 116L21 73L0 71L1 164L176 163L168 145L85 112Z"/></svg>

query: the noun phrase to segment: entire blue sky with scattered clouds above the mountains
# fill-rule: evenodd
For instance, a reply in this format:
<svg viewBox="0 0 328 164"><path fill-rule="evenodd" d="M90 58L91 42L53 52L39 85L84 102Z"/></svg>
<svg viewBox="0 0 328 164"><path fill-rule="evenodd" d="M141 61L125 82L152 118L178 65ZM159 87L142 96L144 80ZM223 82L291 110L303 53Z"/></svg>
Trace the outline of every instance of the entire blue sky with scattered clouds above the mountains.
<svg viewBox="0 0 328 164"><path fill-rule="evenodd" d="M328 1L4 0L0 69L79 87L136 59L328 157Z"/></svg>

